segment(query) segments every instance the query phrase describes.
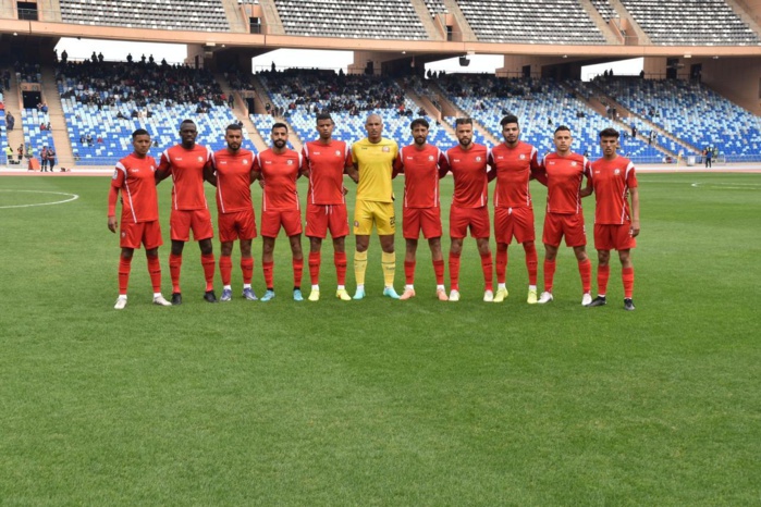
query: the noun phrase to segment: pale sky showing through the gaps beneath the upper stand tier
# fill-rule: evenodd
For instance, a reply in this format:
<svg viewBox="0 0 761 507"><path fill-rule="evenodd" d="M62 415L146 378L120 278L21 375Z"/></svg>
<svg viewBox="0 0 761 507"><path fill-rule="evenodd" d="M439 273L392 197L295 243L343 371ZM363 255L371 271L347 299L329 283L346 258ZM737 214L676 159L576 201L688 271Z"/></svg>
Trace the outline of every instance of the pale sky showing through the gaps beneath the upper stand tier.
<svg viewBox="0 0 761 507"><path fill-rule="evenodd" d="M61 54L66 50L71 60L83 60L93 54L93 49L97 48L103 53L106 60L125 61L127 53L132 53L135 60L139 60L143 54L154 55L156 61L160 62L165 58L170 63L182 63L186 57L184 45L176 44L154 44L154 42L127 42L112 40L93 40L93 39L74 39L62 38L58 44L58 53ZM474 54L470 58L470 65L467 67L459 66L457 58L440 60L438 62L426 65L426 71L434 72L444 71L453 72L470 72L470 73L493 73L495 69L502 66L502 57L495 54ZM261 54L253 59L254 72L263 69L269 69L272 62L275 62L279 69L285 67L308 67L315 66L315 62L320 62L320 69L343 69L354 61L352 51L324 51L324 50L303 50L303 49L278 49L266 54ZM642 70L642 59L636 58L633 60L623 60L615 63L603 63L600 65L590 65L584 69L581 78L590 79L597 74L602 74L603 71L613 69L616 75L637 75Z"/></svg>

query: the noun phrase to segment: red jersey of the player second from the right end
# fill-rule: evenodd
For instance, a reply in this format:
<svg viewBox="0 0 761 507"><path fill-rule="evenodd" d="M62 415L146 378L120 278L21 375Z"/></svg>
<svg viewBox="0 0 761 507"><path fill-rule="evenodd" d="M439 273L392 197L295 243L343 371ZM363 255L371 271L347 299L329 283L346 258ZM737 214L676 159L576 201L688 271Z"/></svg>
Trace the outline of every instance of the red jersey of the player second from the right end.
<svg viewBox="0 0 761 507"><path fill-rule="evenodd" d="M547 172L547 212L557 214L577 214L581 212L581 182L590 177L591 164L586 157L568 153L561 157L550 153L544 157L543 170Z"/></svg>

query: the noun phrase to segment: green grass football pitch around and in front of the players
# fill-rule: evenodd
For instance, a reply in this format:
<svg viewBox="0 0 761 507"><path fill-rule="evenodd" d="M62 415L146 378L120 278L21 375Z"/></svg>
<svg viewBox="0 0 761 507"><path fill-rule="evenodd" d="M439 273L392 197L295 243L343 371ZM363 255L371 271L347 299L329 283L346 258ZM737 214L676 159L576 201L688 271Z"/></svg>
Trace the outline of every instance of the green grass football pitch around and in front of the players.
<svg viewBox="0 0 761 507"><path fill-rule="evenodd" d="M513 245L510 297L482 302L470 238L459 302L434 299L425 240L417 297L383 298L375 237L365 300L332 297L328 240L322 300L295 302L282 233L270 302L240 297L237 251L233 300L202 301L188 244L184 305L150 304L139 250L115 311L110 180L0 177L0 504L759 505L761 174L638 177L634 312L615 256L607 306L582 308L564 247L554 301L526 304ZM159 187L165 296L170 183ZM531 190L540 239L545 194ZM441 195L447 231L451 178ZM349 293L353 249L349 236ZM396 251L401 290L401 231Z"/></svg>

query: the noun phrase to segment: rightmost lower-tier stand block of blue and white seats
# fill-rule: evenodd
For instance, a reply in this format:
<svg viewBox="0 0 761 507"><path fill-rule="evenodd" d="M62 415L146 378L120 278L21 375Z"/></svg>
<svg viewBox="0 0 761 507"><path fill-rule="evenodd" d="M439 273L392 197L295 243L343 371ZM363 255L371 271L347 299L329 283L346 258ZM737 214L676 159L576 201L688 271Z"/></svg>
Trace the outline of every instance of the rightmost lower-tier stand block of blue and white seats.
<svg viewBox="0 0 761 507"><path fill-rule="evenodd" d="M710 146L728 162L761 160L761 119L700 83L609 78L596 84L698 152Z"/></svg>

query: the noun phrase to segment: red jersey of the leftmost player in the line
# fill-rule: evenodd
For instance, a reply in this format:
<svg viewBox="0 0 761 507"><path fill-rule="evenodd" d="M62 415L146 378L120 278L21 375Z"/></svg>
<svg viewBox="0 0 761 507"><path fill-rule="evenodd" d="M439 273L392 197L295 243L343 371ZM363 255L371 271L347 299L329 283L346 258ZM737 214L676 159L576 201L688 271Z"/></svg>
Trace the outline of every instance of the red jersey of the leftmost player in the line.
<svg viewBox="0 0 761 507"><path fill-rule="evenodd" d="M150 156L140 159L130 153L116 162L111 186L122 190L122 223L159 220L155 172L156 160Z"/></svg>

